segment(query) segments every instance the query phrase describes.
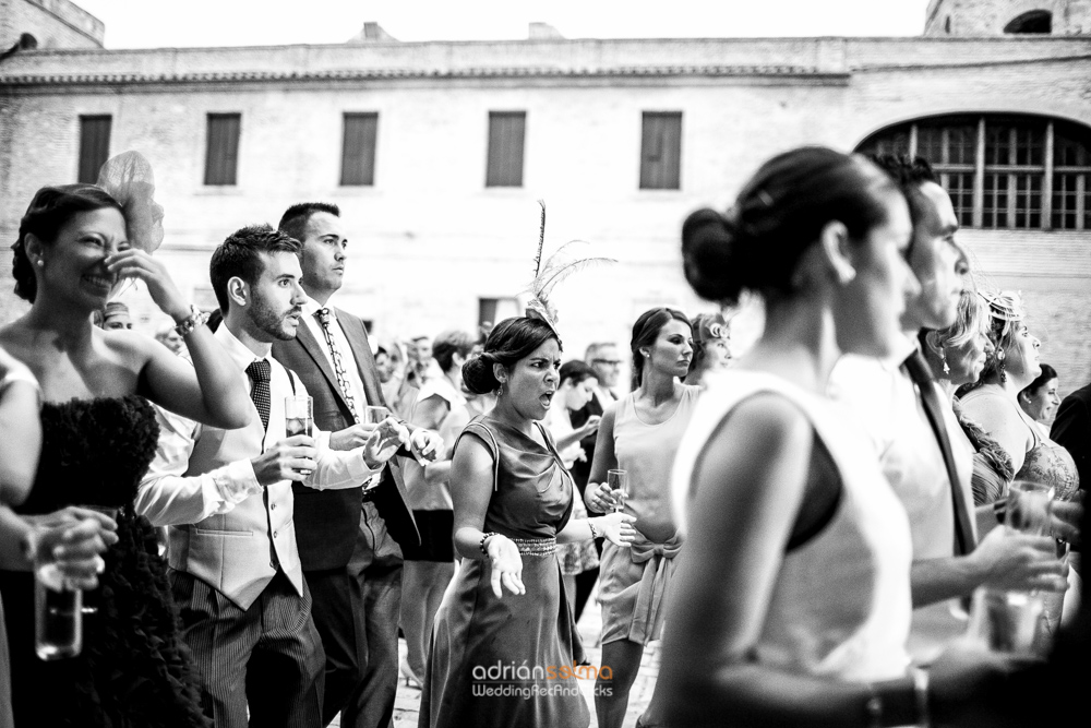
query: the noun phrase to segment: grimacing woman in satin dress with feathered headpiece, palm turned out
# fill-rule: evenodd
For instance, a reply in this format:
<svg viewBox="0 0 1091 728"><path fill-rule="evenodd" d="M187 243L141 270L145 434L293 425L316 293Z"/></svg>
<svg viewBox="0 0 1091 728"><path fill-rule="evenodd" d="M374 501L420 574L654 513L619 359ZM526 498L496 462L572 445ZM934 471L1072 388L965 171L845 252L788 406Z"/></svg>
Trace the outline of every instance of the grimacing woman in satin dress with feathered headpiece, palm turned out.
<svg viewBox="0 0 1091 728"><path fill-rule="evenodd" d="M560 367L560 338L537 318L500 322L463 366L467 389L495 392L496 404L455 444L451 497L463 561L435 616L421 728L590 721L576 678L592 668L578 667L556 546L600 536L624 546L633 518L571 517L572 477L540 421Z"/></svg>

